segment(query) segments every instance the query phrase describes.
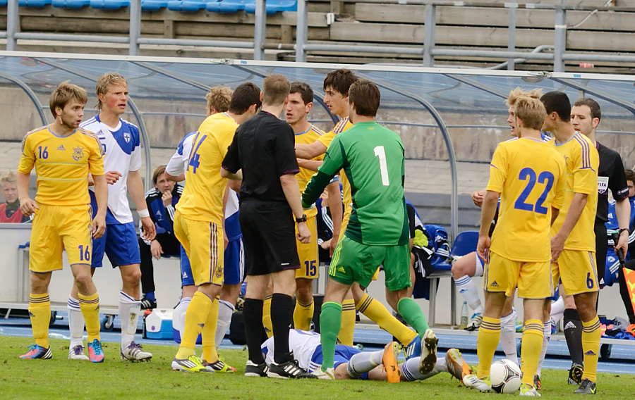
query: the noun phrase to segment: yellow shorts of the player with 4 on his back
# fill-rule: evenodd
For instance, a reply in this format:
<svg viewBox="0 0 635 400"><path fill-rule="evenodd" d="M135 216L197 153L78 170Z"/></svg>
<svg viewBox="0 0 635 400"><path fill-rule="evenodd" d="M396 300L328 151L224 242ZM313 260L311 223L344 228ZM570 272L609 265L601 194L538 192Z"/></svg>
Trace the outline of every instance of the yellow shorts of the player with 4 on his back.
<svg viewBox="0 0 635 400"><path fill-rule="evenodd" d="M177 210L174 235L183 245L192 268L194 285L223 285L223 227L210 221L191 220Z"/></svg>

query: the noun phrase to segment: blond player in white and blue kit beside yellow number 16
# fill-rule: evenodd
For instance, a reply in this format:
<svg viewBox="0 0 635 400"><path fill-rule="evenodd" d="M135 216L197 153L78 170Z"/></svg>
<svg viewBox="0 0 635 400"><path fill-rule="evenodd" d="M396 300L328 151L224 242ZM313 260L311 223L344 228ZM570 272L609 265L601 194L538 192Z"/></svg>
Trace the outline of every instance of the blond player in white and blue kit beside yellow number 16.
<svg viewBox="0 0 635 400"><path fill-rule="evenodd" d="M155 237L155 224L145 203L145 190L139 174L141 168L140 132L138 127L120 118L128 104L128 83L118 73L105 73L97 78L99 114L80 126L95 133L104 150L104 167L107 171L108 211L104 236L93 240L92 271L102 266L104 252L110 263L119 267L123 287L119 292L119 317L121 318L121 359L123 361L149 361L152 354L143 351L134 341L140 305L140 253L139 244L128 205L130 192L141 220L145 239ZM90 191L91 199L95 196ZM77 289L73 287L68 297L71 345L68 358L85 359L81 351L83 318L79 312Z"/></svg>

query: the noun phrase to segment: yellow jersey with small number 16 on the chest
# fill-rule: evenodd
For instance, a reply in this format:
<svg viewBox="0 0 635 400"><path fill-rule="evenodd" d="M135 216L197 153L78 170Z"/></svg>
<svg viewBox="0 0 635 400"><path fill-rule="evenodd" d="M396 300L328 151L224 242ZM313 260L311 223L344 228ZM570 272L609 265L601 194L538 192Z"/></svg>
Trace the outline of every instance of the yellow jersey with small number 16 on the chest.
<svg viewBox="0 0 635 400"><path fill-rule="evenodd" d="M30 174L34 166L38 204L90 204L88 174L104 175L102 145L97 135L82 128L61 137L48 126L39 127L22 140L18 173Z"/></svg>

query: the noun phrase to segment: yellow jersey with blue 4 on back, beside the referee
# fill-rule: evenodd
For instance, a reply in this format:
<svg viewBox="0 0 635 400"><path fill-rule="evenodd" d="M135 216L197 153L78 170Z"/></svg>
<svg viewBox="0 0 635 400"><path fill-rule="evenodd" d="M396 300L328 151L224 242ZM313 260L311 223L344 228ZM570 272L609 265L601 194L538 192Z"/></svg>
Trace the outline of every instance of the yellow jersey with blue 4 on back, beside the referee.
<svg viewBox="0 0 635 400"><path fill-rule="evenodd" d="M205 118L194 134L188 156L186 187L176 209L191 220L221 224L227 180L220 168L238 124L228 113Z"/></svg>

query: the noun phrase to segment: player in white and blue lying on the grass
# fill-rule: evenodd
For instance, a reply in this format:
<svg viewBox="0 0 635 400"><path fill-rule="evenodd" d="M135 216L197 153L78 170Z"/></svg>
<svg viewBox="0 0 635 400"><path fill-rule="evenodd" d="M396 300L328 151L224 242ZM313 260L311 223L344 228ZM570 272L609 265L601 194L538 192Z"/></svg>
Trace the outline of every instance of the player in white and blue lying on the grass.
<svg viewBox="0 0 635 400"><path fill-rule="evenodd" d="M270 337L262 344L267 365L273 360L274 340ZM461 352L449 349L444 357L437 358L437 363L430 373L422 374L421 357L413 357L397 365L399 344L391 342L383 350L360 351L357 347L337 344L335 348L335 379L387 380L389 382L409 382L425 380L438 373L449 373L463 382L463 377L470 373ZM289 331L289 350L294 354L300 368L313 372L322 365L322 346L320 334L305 330Z"/></svg>

